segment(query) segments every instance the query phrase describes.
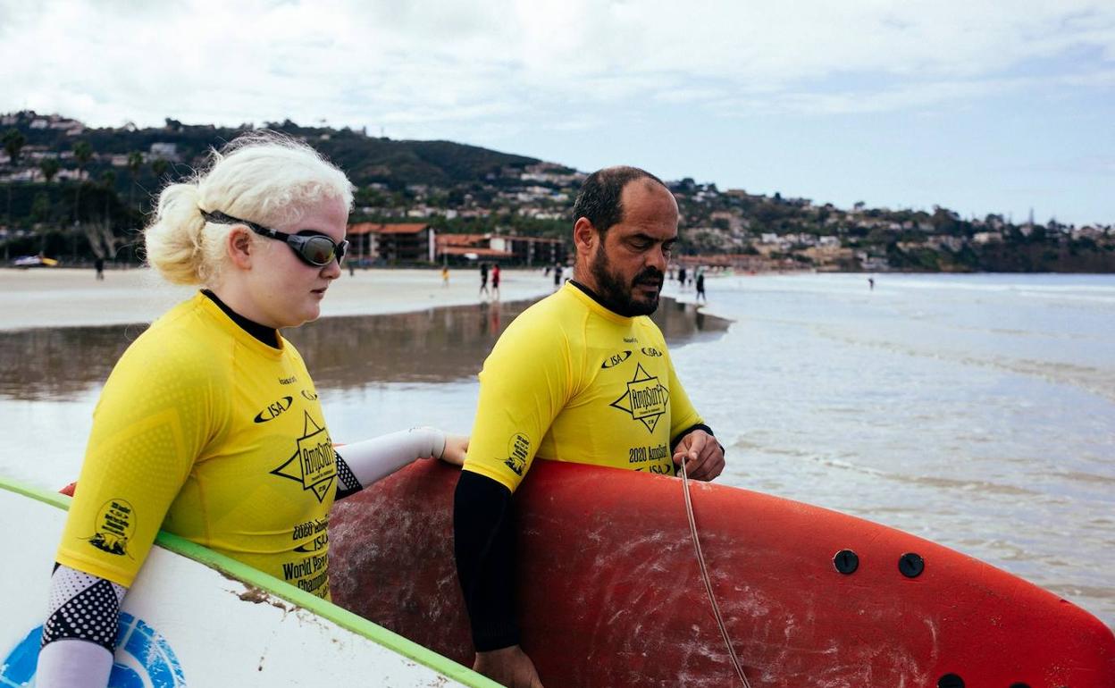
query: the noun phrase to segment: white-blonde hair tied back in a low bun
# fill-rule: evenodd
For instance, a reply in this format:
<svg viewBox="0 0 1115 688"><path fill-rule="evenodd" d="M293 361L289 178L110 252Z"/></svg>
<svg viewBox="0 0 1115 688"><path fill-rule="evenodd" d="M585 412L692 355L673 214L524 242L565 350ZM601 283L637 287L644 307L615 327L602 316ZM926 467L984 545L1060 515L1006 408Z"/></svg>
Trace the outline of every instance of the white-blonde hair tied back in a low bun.
<svg viewBox="0 0 1115 688"><path fill-rule="evenodd" d="M351 207L352 183L320 153L275 132L244 134L211 149L190 180L163 188L144 231L147 262L174 284L213 285L227 261L224 242L233 225L206 222L202 211L274 226L298 221L327 198Z"/></svg>

